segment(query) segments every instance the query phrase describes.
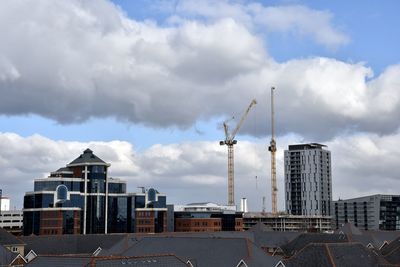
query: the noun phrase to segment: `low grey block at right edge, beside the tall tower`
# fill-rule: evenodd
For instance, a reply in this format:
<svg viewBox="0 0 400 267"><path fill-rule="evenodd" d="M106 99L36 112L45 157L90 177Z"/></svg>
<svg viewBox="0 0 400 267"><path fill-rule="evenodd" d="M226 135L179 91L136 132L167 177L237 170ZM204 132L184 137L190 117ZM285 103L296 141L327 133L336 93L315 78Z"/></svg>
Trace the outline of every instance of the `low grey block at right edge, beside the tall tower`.
<svg viewBox="0 0 400 267"><path fill-rule="evenodd" d="M365 230L400 230L400 195L371 195L333 203L336 229L352 222Z"/></svg>

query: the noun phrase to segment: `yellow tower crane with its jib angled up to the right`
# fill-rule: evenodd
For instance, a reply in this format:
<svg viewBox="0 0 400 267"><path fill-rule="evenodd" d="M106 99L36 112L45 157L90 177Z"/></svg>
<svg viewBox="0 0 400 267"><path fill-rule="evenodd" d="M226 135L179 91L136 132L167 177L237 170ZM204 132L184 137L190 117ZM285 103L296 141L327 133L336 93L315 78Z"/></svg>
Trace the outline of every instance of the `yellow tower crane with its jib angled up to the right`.
<svg viewBox="0 0 400 267"><path fill-rule="evenodd" d="M252 106L257 104L257 101L253 99L250 102L249 107L246 109L242 117L240 118L239 123L236 125L236 128L229 133L227 121L224 122L224 131L225 131L225 140L220 141L219 144L221 146L227 145L228 146L228 205L234 206L235 205L235 188L234 188L234 162L233 162L233 145L237 144L237 140L235 140L235 136L239 131L240 127L242 126L244 120L249 114L249 111Z"/></svg>

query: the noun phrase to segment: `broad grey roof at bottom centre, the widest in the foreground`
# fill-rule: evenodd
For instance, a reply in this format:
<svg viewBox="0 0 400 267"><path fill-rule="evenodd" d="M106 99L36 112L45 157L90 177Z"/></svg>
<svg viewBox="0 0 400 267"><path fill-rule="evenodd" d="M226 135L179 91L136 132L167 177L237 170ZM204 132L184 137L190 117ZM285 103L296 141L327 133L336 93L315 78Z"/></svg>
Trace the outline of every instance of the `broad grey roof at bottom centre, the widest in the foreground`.
<svg viewBox="0 0 400 267"><path fill-rule="evenodd" d="M196 266L274 266L279 258L267 255L246 238L144 237L122 253L123 256L174 254Z"/></svg>

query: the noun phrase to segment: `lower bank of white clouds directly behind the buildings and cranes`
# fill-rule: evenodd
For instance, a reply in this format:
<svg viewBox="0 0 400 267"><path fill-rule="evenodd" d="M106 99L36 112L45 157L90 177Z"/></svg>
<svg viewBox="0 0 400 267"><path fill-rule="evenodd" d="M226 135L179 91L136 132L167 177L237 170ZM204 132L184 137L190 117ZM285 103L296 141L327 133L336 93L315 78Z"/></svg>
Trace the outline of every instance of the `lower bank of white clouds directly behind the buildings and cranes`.
<svg viewBox="0 0 400 267"><path fill-rule="evenodd" d="M278 139L278 202L284 209L283 150L303 142L301 136ZM332 151L333 198L367 194L397 194L396 172L400 134L342 136L325 143ZM84 149L111 163L110 176L136 187L155 187L166 193L168 202L227 202L227 149L218 142L187 142L154 145L142 152L124 141L66 142L40 135L21 137L0 134L0 182L14 205L22 205L23 194L33 190L33 179L44 178L78 157ZM266 196L270 209L270 154L264 143L239 141L235 146L235 199L247 197L252 210L260 210Z"/></svg>

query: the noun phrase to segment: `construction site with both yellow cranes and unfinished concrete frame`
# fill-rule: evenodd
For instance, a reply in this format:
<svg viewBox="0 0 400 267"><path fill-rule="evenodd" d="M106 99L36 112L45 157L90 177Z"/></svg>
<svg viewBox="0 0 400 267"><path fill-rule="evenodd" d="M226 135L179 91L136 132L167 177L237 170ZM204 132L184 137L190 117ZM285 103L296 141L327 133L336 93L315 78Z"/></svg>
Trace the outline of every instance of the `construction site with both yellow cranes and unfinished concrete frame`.
<svg viewBox="0 0 400 267"><path fill-rule="evenodd" d="M278 212L278 186L277 186L277 167L276 167L276 153L277 153L277 142L275 137L275 87L270 89L270 129L271 129L271 140L269 142L268 151L270 152L270 188L271 192L271 211L266 211L266 196L262 198L262 210L259 212L248 212L247 199L242 198L240 203L240 211L243 212L243 224L244 229L249 229L252 225L257 222L262 222L265 225L272 227L277 231L299 231L299 230L311 230L317 232L324 232L331 230L331 219L330 212L325 213L295 213L288 212L289 210ZM225 140L220 141L220 145L226 145L228 148L228 167L227 167L227 205L236 206L235 202L235 162L234 162L234 146L238 144L235 139L241 126L246 120L251 109L257 104L256 99L253 99L247 109L244 111L237 125L232 131L229 131L228 121L223 123L223 129L225 133ZM267 176L268 177L268 176ZM290 186L290 185L289 185ZM267 190L265 190L267 192ZM332 199L330 199L332 201Z"/></svg>

